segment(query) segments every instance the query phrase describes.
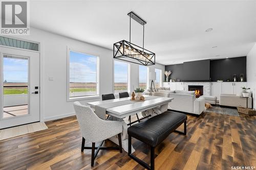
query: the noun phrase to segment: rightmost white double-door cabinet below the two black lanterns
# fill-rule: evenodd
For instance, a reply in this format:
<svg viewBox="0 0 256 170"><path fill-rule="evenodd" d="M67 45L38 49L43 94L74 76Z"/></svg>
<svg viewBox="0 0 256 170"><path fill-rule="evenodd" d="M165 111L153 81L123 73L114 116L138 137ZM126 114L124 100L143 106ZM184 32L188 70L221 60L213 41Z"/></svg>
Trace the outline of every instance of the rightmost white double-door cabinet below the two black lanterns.
<svg viewBox="0 0 256 170"><path fill-rule="evenodd" d="M223 82L222 94L236 94L242 93L242 87L247 87L247 82Z"/></svg>

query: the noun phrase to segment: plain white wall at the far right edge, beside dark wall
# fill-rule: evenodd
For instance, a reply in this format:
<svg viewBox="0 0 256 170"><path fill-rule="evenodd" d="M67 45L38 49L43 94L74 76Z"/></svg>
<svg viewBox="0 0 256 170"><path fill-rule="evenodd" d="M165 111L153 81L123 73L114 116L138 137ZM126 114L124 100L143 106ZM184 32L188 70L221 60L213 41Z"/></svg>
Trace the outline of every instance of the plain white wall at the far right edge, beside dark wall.
<svg viewBox="0 0 256 170"><path fill-rule="evenodd" d="M256 43L247 54L247 85L251 88L253 108L256 108Z"/></svg>

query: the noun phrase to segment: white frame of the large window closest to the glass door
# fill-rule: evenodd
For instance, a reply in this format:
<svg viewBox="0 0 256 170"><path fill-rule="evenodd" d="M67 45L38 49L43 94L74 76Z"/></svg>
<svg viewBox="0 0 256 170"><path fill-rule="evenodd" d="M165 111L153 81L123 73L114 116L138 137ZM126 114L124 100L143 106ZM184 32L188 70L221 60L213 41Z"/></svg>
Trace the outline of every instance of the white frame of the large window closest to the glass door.
<svg viewBox="0 0 256 170"><path fill-rule="evenodd" d="M77 97L73 97L70 98L70 52L75 52L75 53L81 53L81 54L85 54L85 55L89 55L89 56L95 56L96 57L96 91L97 94L96 95L87 95L87 96L77 96ZM67 46L67 102L72 102L72 101L80 101L80 100L88 100L88 99L98 99L100 98L100 88L99 88L99 55L95 55L95 54L89 54L86 53L82 50L77 50L75 48L71 48L69 46Z"/></svg>

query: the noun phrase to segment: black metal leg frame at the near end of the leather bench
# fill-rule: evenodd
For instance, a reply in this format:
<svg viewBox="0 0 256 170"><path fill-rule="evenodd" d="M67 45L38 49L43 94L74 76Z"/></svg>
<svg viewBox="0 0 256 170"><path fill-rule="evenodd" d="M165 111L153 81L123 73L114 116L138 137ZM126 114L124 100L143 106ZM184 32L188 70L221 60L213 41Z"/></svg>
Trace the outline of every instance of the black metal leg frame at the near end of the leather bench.
<svg viewBox="0 0 256 170"><path fill-rule="evenodd" d="M138 162L140 165L145 167L146 169L154 170L155 169L155 147L151 147L151 153L150 153L150 165L145 163L144 161L140 160L136 156L132 155L132 137L128 136L128 155Z"/></svg>

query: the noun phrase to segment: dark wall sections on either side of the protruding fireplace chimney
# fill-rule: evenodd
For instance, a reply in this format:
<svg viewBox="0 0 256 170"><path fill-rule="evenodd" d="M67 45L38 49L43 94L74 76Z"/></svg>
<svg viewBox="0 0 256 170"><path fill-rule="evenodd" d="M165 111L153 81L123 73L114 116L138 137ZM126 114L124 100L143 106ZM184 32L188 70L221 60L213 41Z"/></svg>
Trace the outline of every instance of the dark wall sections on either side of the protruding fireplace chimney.
<svg viewBox="0 0 256 170"><path fill-rule="evenodd" d="M210 60L209 65L211 81L220 79L223 81L230 79L230 81L232 81L233 74L237 74L238 79L240 74L244 74L244 81L246 81L246 57ZM172 71L170 79L186 81L183 64L165 65L165 70ZM194 69L191 68L189 71L194 71Z"/></svg>

